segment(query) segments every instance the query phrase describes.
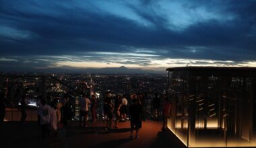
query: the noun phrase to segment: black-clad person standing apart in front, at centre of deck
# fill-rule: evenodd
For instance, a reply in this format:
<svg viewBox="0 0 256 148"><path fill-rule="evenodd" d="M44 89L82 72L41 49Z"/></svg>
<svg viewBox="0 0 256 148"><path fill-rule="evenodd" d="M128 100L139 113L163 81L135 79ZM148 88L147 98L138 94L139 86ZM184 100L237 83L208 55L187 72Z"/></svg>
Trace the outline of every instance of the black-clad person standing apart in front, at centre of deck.
<svg viewBox="0 0 256 148"><path fill-rule="evenodd" d="M131 135L130 138L133 138L133 130L135 128L136 130L136 136L135 138L139 138L139 128L142 126L141 122L141 113L142 113L142 106L139 102L139 99L135 98L133 99L133 104L131 104L129 108L129 114L131 117L130 124L131 124Z"/></svg>

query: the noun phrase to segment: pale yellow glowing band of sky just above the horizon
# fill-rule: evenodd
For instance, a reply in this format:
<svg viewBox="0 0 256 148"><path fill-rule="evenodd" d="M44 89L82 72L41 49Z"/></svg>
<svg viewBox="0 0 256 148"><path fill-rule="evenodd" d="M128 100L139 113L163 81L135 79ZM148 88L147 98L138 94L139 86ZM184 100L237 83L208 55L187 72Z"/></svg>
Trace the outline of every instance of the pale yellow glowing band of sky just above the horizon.
<svg viewBox="0 0 256 148"><path fill-rule="evenodd" d="M168 67L256 67L256 61L235 63L234 61L212 61L212 60L193 60L193 59L152 59L148 65L141 63L129 64L121 61L100 62L100 61L57 61L55 67L74 67L74 68L115 68L125 66L127 68L145 69L162 71ZM204 63L204 64L199 64Z"/></svg>

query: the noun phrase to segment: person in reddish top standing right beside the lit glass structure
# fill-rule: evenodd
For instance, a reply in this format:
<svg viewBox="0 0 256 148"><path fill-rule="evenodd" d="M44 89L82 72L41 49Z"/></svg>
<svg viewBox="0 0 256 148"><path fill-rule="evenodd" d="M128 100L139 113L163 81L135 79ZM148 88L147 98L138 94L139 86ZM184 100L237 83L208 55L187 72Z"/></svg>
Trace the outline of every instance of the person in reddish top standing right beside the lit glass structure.
<svg viewBox="0 0 256 148"><path fill-rule="evenodd" d="M168 97L166 97L164 105L162 107L162 117L163 117L162 131L165 131L167 128L167 118L170 117L170 109L171 109L171 104L168 101Z"/></svg>

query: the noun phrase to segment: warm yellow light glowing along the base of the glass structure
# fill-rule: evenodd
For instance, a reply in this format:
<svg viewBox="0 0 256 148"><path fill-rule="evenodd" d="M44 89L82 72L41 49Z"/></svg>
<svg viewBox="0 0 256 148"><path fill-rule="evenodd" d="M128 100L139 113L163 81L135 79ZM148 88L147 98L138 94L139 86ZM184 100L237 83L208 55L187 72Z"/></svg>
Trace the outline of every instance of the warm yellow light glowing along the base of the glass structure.
<svg viewBox="0 0 256 148"><path fill-rule="evenodd" d="M168 128L174 135L176 135L186 146L189 147L253 147L256 146L256 137L251 139L243 139L243 137L234 137L233 135L226 135L224 137L224 128L218 128L218 120L208 120L206 128L204 122L196 122L195 124L195 137L188 139L188 122L183 120L183 127L181 119L177 119L175 126L170 125L170 118L168 119ZM255 141L255 142L253 142Z"/></svg>

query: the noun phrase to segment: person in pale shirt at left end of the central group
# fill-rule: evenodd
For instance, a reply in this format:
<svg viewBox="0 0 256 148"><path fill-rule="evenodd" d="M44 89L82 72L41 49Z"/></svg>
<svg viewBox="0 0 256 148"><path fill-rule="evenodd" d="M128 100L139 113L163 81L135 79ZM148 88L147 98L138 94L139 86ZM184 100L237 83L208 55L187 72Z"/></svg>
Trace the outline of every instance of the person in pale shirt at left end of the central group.
<svg viewBox="0 0 256 148"><path fill-rule="evenodd" d="M89 110L89 104L90 104L89 96L88 95L83 95L82 100L80 100L80 126L82 126L82 117L84 117L84 126L88 126L87 124L87 117L88 117L88 110Z"/></svg>

